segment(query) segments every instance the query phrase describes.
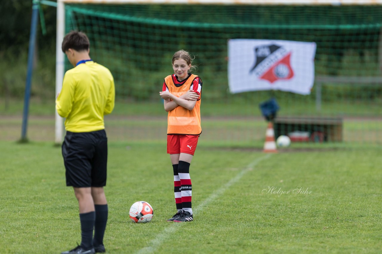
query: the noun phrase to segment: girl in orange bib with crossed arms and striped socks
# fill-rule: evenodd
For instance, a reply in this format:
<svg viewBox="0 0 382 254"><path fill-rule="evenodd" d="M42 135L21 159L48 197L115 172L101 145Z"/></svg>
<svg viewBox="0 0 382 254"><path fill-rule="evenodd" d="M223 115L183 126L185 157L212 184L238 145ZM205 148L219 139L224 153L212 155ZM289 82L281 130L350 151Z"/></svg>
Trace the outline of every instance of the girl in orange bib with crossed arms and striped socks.
<svg viewBox="0 0 382 254"><path fill-rule="evenodd" d="M194 156L199 135L202 80L189 73L195 70L193 58L187 51L175 52L172 57L174 74L164 79L160 96L164 100L167 117L167 153L174 172L176 214L167 221L193 220L191 206L192 185L189 166Z"/></svg>

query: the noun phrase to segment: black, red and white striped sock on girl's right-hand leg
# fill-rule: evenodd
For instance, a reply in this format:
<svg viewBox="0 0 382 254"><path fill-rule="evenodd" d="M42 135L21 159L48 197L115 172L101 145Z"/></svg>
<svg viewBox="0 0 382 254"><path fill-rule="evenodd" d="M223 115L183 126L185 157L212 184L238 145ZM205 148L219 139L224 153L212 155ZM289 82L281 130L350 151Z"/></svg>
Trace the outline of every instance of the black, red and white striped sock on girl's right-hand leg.
<svg viewBox="0 0 382 254"><path fill-rule="evenodd" d="M181 184L182 209L192 214L192 185L189 174L189 167L190 164L188 162L179 161L178 175Z"/></svg>

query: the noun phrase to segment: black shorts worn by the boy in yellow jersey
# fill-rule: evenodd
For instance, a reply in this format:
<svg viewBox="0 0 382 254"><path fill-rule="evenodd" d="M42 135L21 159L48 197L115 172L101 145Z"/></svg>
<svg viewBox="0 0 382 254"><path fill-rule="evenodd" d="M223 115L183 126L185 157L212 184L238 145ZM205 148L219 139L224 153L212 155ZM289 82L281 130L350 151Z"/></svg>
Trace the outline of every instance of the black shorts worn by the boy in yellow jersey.
<svg viewBox="0 0 382 254"><path fill-rule="evenodd" d="M74 133L66 131L62 143L66 186L106 185L107 137L105 130Z"/></svg>

